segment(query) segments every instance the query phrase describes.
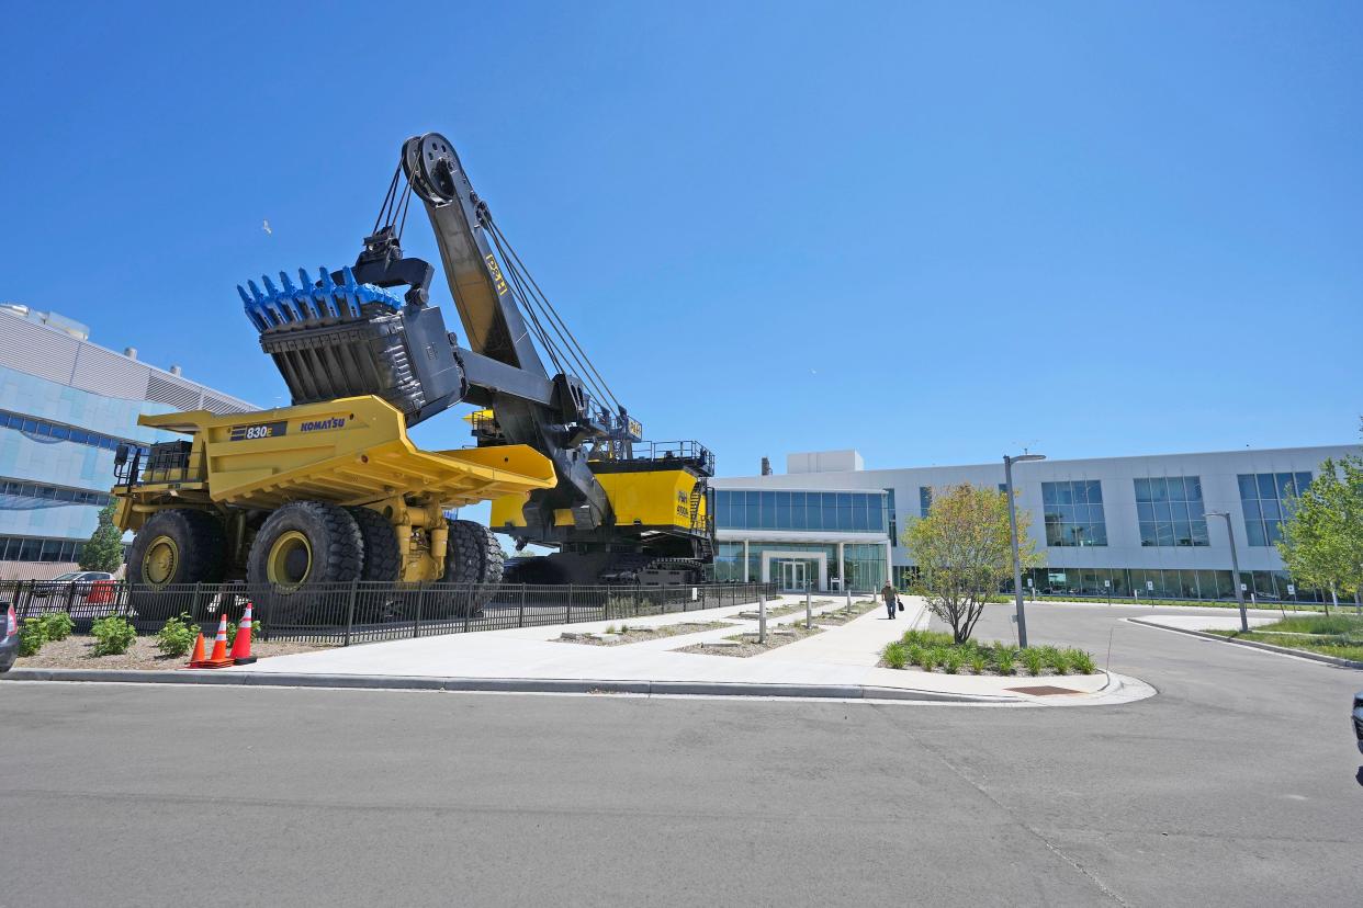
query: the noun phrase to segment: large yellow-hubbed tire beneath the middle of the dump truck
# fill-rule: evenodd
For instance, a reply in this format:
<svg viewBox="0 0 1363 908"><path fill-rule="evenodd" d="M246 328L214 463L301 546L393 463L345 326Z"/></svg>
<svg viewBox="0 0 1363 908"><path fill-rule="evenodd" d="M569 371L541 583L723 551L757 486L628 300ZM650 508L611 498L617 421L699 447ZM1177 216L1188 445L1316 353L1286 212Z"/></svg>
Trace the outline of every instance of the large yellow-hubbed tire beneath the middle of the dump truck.
<svg viewBox="0 0 1363 908"><path fill-rule="evenodd" d="M247 580L264 600L260 618L267 628L308 615L322 623L342 623L349 592L334 584L358 580L363 568L364 536L345 508L293 501L270 515L256 532L247 557Z"/></svg>

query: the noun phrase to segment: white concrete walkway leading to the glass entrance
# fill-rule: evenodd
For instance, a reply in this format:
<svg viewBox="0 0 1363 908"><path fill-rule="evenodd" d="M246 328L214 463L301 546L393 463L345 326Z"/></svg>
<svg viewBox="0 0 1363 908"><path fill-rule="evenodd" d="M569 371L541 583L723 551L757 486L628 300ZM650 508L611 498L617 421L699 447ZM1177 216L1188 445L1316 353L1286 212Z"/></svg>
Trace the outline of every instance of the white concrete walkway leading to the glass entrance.
<svg viewBox="0 0 1363 908"><path fill-rule="evenodd" d="M925 625L920 599L908 598L904 619L890 621L882 609L856 618L841 628L829 628L770 652L751 658L676 652L705 640L729 637L755 630L756 622L737 618L751 607L724 607L684 614L630 619L630 625L660 626L683 622L733 621L735 623L695 634L677 634L660 640L611 647L560 643L567 632L601 632L612 622L518 628L469 634L446 634L395 640L358 647L328 649L263 659L248 667L229 668L269 683L275 675L282 681L298 677L447 679L459 682L521 682L525 689L536 683L566 682L597 685L642 685L650 693L667 692L668 685L684 685L682 693L737 694L761 692L771 696L851 696L857 698L965 701L994 704L1097 704L1124 702L1153 693L1142 682L1120 677L1069 675L1065 678L996 678L946 675L923 671L879 668L880 649L904 630ZM803 603L799 598L774 600L780 604ZM841 607L837 598L822 610ZM769 621L769 628L804 621L804 611ZM816 619L815 619L816 623ZM1067 693L1033 694L1018 687L1060 687ZM383 685L379 685L383 686ZM514 687L511 687L514 689Z"/></svg>

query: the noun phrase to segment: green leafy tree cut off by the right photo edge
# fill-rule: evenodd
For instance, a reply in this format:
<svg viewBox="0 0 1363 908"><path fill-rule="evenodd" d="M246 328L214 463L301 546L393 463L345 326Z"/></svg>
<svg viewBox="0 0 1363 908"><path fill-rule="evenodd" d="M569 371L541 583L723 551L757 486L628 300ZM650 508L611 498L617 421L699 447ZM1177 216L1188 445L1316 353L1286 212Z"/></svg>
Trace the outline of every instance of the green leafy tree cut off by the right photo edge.
<svg viewBox="0 0 1363 908"><path fill-rule="evenodd" d="M1277 543L1283 564L1299 584L1329 589L1338 606L1340 594L1363 581L1363 459L1322 463L1291 509Z"/></svg>

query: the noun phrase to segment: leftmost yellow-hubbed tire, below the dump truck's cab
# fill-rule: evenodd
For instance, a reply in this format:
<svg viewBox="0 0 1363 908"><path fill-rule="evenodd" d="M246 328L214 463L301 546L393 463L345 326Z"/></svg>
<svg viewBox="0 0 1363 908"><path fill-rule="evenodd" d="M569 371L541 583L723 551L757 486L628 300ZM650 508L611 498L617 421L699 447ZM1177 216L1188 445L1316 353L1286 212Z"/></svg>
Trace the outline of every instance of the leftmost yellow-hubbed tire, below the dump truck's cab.
<svg viewBox="0 0 1363 908"><path fill-rule="evenodd" d="M142 621L164 621L192 607L180 584L222 583L228 538L206 510L173 508L151 515L128 551L128 599Z"/></svg>

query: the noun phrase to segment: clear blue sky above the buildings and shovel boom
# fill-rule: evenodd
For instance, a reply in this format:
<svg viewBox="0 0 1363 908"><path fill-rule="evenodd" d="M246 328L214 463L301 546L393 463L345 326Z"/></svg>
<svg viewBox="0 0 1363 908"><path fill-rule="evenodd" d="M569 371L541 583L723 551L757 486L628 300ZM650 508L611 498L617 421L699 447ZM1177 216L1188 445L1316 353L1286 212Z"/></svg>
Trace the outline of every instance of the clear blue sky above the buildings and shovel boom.
<svg viewBox="0 0 1363 908"><path fill-rule="evenodd" d="M120 5L7 14L0 298L259 404L234 285L440 131L721 474L1358 438L1360 4Z"/></svg>

